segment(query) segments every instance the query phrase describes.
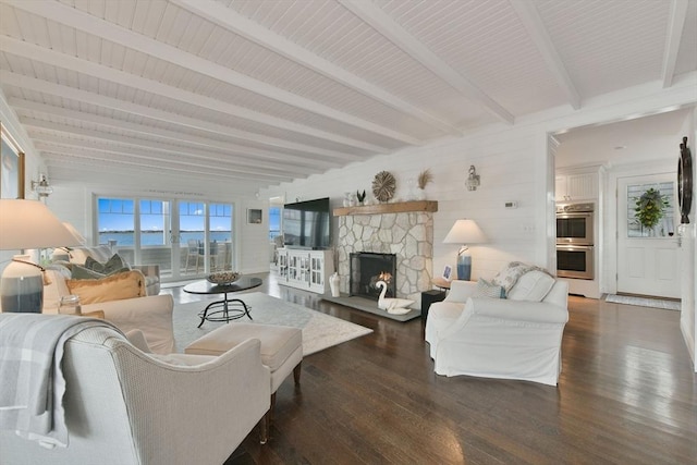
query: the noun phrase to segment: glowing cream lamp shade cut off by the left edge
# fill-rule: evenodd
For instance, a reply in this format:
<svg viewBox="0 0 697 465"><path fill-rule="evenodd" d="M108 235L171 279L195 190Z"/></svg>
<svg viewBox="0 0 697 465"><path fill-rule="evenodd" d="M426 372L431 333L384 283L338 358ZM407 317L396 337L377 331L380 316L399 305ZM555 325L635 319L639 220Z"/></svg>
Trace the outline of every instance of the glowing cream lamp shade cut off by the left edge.
<svg viewBox="0 0 697 465"><path fill-rule="evenodd" d="M80 245L38 200L0 199L0 250Z"/></svg>

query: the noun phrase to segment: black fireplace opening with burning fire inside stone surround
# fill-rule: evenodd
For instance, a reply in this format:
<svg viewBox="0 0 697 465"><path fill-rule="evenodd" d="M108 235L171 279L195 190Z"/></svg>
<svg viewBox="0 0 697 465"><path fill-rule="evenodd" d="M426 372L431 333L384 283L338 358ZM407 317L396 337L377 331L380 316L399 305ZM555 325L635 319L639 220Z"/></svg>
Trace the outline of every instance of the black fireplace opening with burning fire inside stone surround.
<svg viewBox="0 0 697 465"><path fill-rule="evenodd" d="M380 289L375 284L388 284L386 297L396 295L396 255L358 252L351 254L351 278L348 295L378 301Z"/></svg>

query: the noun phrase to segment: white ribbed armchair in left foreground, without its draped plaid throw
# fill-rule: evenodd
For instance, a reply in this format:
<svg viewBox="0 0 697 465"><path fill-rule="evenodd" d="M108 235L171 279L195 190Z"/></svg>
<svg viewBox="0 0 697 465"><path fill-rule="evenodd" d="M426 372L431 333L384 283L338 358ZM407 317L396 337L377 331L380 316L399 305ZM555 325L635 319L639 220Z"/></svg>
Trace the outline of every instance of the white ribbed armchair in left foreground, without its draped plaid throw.
<svg viewBox="0 0 697 465"><path fill-rule="evenodd" d="M94 327L64 345L66 448L0 431L2 463L221 464L270 405L260 343L220 356L154 355Z"/></svg>

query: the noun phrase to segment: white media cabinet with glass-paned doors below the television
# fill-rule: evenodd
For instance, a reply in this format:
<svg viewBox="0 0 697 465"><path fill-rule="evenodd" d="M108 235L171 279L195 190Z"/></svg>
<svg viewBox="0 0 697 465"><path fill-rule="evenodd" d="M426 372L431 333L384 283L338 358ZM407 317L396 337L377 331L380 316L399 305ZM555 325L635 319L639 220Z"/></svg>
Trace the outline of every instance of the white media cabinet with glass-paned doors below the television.
<svg viewBox="0 0 697 465"><path fill-rule="evenodd" d="M279 284L325 294L334 265L331 250L280 248Z"/></svg>

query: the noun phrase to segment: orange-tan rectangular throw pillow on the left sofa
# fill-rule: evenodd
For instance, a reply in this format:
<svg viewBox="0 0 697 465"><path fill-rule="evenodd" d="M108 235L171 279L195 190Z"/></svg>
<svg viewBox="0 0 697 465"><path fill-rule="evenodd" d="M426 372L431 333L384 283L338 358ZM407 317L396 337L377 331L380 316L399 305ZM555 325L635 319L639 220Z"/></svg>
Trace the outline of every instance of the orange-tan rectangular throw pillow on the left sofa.
<svg viewBox="0 0 697 465"><path fill-rule="evenodd" d="M145 297L145 277L138 270L125 271L102 279L69 280L71 294L80 296L81 304Z"/></svg>

